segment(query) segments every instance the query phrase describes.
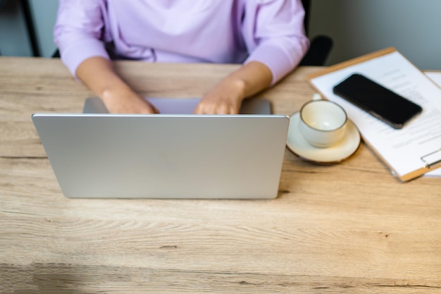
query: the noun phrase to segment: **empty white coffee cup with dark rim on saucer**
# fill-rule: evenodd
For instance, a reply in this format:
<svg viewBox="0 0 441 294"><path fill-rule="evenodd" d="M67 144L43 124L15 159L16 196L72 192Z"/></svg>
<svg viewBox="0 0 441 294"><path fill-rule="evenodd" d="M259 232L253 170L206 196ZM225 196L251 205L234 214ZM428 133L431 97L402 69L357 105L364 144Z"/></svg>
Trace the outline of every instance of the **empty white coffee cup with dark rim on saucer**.
<svg viewBox="0 0 441 294"><path fill-rule="evenodd" d="M346 125L346 112L334 102L312 100L300 109L300 133L316 147L329 147L342 140Z"/></svg>

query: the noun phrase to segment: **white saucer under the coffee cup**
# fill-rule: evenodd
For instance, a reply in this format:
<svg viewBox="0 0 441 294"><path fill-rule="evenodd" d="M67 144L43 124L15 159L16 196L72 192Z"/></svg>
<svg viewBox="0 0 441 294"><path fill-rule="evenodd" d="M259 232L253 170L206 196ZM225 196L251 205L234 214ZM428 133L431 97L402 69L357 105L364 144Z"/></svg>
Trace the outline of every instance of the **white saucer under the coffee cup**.
<svg viewBox="0 0 441 294"><path fill-rule="evenodd" d="M299 112L290 116L287 147L301 159L316 164L335 164L350 157L360 146L359 130L350 120L347 121L346 134L342 140L330 147L316 147L306 142L299 132L299 121Z"/></svg>

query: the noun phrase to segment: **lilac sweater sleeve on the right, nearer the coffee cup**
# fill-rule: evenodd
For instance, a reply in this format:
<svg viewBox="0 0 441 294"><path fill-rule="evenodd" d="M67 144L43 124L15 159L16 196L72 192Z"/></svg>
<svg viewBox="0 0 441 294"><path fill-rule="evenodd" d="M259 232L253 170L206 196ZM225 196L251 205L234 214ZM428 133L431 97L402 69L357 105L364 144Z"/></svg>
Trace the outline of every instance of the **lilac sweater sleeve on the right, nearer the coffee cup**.
<svg viewBox="0 0 441 294"><path fill-rule="evenodd" d="M242 35L250 54L244 63L268 66L274 85L298 66L309 49L303 22L300 0L245 1Z"/></svg>

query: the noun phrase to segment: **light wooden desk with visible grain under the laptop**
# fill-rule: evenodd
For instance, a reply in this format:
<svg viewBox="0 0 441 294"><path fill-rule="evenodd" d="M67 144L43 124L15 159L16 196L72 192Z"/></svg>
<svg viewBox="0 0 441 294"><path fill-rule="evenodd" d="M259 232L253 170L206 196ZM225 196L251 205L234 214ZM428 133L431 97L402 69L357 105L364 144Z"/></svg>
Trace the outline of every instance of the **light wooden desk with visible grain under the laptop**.
<svg viewBox="0 0 441 294"><path fill-rule="evenodd" d="M200 97L236 66L125 61L151 97ZM262 96L311 99L298 68ZM441 293L441 179L401 183L364 145L285 153L275 200L70 200L31 121L91 96L57 59L0 58L0 293Z"/></svg>

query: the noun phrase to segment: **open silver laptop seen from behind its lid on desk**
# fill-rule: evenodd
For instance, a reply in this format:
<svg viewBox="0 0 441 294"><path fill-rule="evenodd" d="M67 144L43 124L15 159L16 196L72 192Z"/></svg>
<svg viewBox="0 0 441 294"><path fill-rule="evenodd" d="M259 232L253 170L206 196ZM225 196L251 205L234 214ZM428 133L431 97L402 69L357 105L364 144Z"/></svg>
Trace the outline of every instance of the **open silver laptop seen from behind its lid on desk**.
<svg viewBox="0 0 441 294"><path fill-rule="evenodd" d="M271 199L289 117L251 98L237 115L194 115L199 99L147 98L161 114L33 114L63 195L72 198Z"/></svg>

